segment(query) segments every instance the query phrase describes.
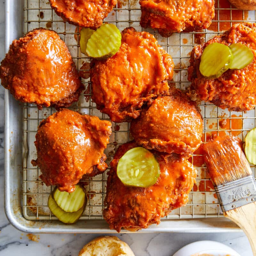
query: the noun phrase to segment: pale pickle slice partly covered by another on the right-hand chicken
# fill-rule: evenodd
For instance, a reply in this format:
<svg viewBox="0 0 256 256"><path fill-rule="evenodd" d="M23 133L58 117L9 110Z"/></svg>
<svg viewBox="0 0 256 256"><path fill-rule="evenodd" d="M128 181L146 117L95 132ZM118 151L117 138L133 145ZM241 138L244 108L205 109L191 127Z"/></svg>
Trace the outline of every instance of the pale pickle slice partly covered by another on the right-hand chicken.
<svg viewBox="0 0 256 256"><path fill-rule="evenodd" d="M252 62L253 53L250 48L244 44L231 44L229 45L233 53L233 61L230 64L230 69L241 69L246 67Z"/></svg>

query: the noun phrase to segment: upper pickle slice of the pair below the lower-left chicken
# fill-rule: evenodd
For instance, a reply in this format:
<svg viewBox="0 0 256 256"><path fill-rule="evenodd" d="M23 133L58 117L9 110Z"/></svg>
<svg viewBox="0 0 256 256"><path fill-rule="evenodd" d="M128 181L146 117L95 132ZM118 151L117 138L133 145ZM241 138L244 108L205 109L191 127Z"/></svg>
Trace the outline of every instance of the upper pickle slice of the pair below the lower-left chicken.
<svg viewBox="0 0 256 256"><path fill-rule="evenodd" d="M56 204L65 212L77 212L87 200L84 188L77 184L72 193L60 191L57 187L52 191Z"/></svg>

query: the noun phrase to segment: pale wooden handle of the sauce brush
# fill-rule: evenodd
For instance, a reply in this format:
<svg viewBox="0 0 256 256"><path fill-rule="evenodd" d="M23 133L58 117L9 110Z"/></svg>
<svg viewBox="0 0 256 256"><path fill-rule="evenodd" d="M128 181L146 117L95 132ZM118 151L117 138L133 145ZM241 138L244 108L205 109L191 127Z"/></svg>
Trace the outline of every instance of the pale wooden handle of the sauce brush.
<svg viewBox="0 0 256 256"><path fill-rule="evenodd" d="M251 244L253 255L256 256L256 202L245 204L223 214L244 230Z"/></svg>

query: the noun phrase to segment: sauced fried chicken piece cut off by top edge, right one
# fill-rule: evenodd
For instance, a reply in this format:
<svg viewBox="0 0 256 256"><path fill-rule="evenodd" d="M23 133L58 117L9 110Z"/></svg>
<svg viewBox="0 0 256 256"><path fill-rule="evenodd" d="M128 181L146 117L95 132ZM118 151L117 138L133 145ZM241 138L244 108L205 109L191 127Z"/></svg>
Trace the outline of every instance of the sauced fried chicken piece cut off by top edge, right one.
<svg viewBox="0 0 256 256"><path fill-rule="evenodd" d="M164 37L208 28L214 18L214 0L140 0L140 9L140 26Z"/></svg>

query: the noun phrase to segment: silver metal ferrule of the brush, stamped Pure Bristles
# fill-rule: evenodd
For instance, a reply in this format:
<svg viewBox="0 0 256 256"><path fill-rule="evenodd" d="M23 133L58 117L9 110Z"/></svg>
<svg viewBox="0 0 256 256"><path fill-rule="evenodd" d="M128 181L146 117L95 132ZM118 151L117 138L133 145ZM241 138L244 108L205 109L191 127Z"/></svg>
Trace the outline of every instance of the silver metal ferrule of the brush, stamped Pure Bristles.
<svg viewBox="0 0 256 256"><path fill-rule="evenodd" d="M214 188L222 212L256 201L256 182L253 175Z"/></svg>

